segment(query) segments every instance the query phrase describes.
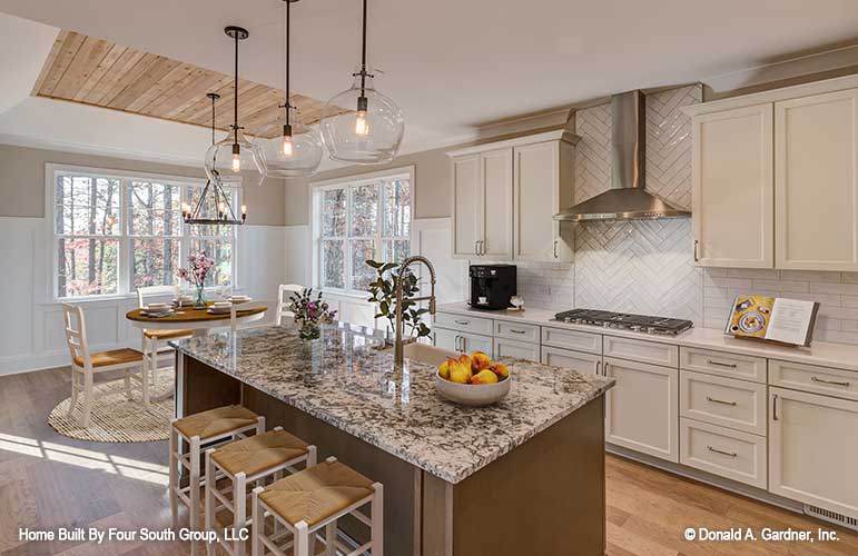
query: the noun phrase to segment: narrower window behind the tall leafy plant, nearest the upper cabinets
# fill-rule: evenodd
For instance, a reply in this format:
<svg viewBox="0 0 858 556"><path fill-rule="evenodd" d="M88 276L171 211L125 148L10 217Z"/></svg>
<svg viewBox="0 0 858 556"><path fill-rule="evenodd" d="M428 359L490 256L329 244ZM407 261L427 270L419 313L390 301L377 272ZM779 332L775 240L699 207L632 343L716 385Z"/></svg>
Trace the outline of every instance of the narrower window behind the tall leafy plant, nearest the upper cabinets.
<svg viewBox="0 0 858 556"><path fill-rule="evenodd" d="M412 171L317 185L313 192L314 284L362 294L375 270L367 259L401 261L411 252Z"/></svg>

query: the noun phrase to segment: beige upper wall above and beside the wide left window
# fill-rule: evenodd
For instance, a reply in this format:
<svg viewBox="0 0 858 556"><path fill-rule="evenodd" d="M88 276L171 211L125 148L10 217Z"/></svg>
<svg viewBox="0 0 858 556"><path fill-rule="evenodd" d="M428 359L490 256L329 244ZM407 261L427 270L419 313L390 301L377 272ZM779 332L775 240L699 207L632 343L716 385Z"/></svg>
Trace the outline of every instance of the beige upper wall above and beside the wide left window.
<svg viewBox="0 0 858 556"><path fill-rule="evenodd" d="M0 216L33 218L45 216L46 162L189 178L205 179L206 177L201 163L198 168L194 168L0 145ZM285 189L282 180L269 178L260 187L245 188L244 202L247 205L247 224L264 226L286 224Z"/></svg>

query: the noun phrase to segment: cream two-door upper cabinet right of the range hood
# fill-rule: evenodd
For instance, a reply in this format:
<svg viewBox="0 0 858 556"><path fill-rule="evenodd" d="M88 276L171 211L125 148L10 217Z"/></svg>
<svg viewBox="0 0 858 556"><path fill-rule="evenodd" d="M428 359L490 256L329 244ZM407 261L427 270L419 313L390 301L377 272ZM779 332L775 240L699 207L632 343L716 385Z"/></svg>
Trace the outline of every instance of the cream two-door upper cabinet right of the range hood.
<svg viewBox="0 0 858 556"><path fill-rule="evenodd" d="M858 270L858 76L687 107L702 266Z"/></svg>

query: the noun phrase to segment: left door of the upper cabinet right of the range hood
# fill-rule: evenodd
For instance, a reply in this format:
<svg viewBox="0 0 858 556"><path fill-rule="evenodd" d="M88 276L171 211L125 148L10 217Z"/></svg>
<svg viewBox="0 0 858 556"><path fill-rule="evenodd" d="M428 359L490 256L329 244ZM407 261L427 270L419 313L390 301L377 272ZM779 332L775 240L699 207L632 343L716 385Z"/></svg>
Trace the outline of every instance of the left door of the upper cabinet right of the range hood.
<svg viewBox="0 0 858 556"><path fill-rule="evenodd" d="M772 105L697 116L692 133L698 262L772 268Z"/></svg>

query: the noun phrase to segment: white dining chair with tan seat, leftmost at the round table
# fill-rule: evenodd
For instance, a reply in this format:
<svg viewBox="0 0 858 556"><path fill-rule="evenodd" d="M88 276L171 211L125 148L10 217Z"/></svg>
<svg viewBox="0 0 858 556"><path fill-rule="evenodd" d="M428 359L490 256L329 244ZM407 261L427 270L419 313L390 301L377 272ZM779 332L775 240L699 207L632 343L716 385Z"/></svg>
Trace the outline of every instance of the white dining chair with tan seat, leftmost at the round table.
<svg viewBox="0 0 858 556"><path fill-rule="evenodd" d="M61 304L62 316L66 326L66 342L69 346L71 356L71 404L69 405L69 416L77 407L78 399L82 393L83 407L81 409L78 423L81 427L89 426L90 414L92 413L92 401L95 400L95 376L100 373L112 370L122 370L121 378L108 380L108 383L124 380L125 395L134 399L131 391L131 380L140 384L144 406L149 407L149 379L147 369L142 364L142 354L131 348L111 349L109 351L89 351L87 342L87 325L83 318L83 309L77 305ZM139 369L139 373L135 373ZM103 393L100 396L110 395Z"/></svg>

